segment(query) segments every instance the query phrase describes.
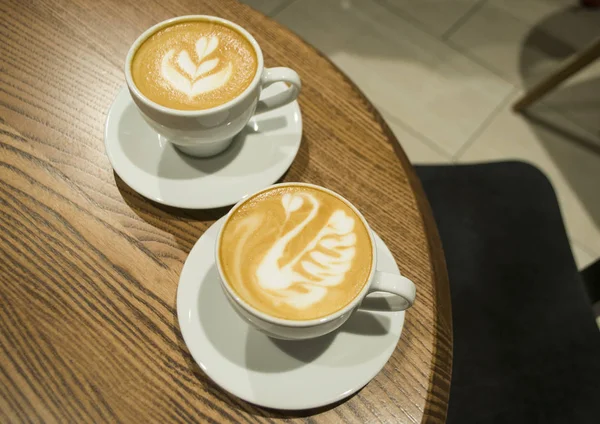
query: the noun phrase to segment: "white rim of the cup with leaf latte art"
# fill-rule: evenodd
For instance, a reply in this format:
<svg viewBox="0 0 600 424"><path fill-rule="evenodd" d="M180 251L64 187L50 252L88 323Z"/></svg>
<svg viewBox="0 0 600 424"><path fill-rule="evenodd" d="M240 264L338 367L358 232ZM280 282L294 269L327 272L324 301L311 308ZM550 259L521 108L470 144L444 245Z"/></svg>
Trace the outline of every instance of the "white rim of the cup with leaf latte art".
<svg viewBox="0 0 600 424"><path fill-rule="evenodd" d="M250 42L250 44L254 48L254 53L256 53L256 59L258 62L257 67L256 67L256 74L254 75L254 78L250 82L250 85L248 85L248 87L246 87L246 89L244 91L242 91L242 93L239 94L236 98L231 99L228 102L223 103L219 106L212 107L210 109L179 110L179 109L173 109L170 107L162 106L162 105L150 100L137 88L137 86L133 82L133 77L131 75L131 61L133 60L133 56L135 56L135 53L137 52L138 48L144 43L144 41L146 41L148 38L150 38L150 36L152 36L157 31L159 31L165 27L171 26L173 24L179 23L179 22L198 21L198 20L218 22L224 26L228 26L231 29L239 32L242 36L244 36L246 38L246 40L248 40ZM212 114L215 112L221 112L223 110L228 110L232 106L235 106L236 104L241 102L241 100L244 97L246 97L250 92L252 92L256 88L258 83L260 82L263 67L264 67L264 59L263 59L263 55L262 55L262 50L260 49L258 42L254 39L254 37L248 31L246 31L244 28L242 28L235 22L231 22L231 21L228 21L227 19L223 19L223 18L219 18L217 16L211 16L211 15L185 15L185 16L178 16L176 18L171 18L171 19L167 19L165 21L159 22L159 23L151 26L150 28L148 28L138 38L136 38L136 40L133 42L131 47L129 47L129 50L127 52L127 57L125 59L125 80L127 82L127 86L129 87L129 89L131 91L133 91L135 93L136 97L138 97L138 99L141 100L146 106L157 109L160 112L171 114L171 115L176 115L176 116L204 116L204 115L209 115L209 114Z"/></svg>

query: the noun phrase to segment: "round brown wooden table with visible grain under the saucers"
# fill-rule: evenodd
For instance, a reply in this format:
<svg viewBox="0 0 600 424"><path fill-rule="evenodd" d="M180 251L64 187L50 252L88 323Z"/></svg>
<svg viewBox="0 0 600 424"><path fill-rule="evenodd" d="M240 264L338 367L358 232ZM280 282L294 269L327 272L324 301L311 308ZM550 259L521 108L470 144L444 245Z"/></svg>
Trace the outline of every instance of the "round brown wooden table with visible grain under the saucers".
<svg viewBox="0 0 600 424"><path fill-rule="evenodd" d="M0 422L445 420L451 314L431 211L381 116L327 58L234 0L1 0L0 13ZM298 71L304 137L283 180L355 203L417 285L394 355L338 405L266 410L202 373L177 324L178 274L227 209L154 204L105 156L129 45L185 14L238 22L267 66Z"/></svg>

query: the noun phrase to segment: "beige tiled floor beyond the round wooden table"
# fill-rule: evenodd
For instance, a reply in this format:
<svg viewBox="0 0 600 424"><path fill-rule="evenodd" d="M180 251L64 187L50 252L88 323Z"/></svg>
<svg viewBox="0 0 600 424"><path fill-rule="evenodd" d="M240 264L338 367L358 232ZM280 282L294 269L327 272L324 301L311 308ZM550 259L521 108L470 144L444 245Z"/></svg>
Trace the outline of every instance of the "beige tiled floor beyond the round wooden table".
<svg viewBox="0 0 600 424"><path fill-rule="evenodd" d="M580 267L600 257L600 63L510 106L600 36L577 0L244 0L327 54L415 163L521 159L552 181Z"/></svg>

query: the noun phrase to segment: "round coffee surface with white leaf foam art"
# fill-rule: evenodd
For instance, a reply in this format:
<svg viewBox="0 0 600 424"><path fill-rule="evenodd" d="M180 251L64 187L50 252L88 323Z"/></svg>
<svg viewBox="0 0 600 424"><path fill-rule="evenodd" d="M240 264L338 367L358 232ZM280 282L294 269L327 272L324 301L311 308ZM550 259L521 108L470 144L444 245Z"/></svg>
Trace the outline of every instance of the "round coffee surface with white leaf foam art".
<svg viewBox="0 0 600 424"><path fill-rule="evenodd" d="M208 20L178 22L142 42L131 61L136 87L172 109L210 109L239 96L258 68L250 41Z"/></svg>

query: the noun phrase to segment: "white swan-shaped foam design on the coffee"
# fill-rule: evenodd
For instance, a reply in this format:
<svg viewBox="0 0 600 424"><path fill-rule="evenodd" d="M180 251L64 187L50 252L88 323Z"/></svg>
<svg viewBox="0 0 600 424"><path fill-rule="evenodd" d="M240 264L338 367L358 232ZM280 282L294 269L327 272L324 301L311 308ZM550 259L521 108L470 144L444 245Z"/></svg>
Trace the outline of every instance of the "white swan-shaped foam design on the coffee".
<svg viewBox="0 0 600 424"><path fill-rule="evenodd" d="M314 220L319 209L318 200L309 193L282 197L286 222L304 202L310 204L306 218L281 235L256 270L258 284L270 294L273 302L284 302L298 309L314 305L327 295L329 288L340 284L356 255L354 218L338 209L301 251L282 264L288 244Z"/></svg>

